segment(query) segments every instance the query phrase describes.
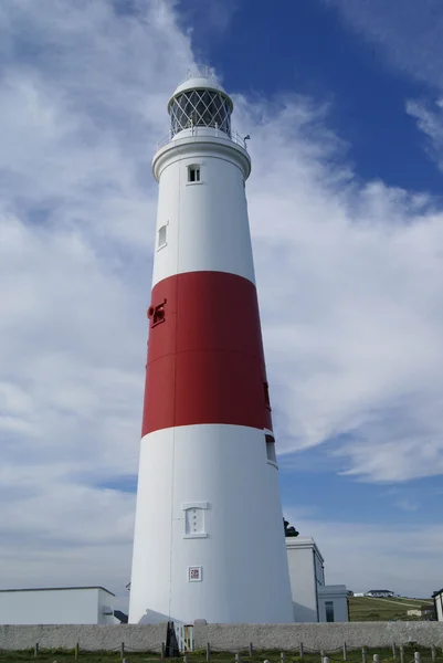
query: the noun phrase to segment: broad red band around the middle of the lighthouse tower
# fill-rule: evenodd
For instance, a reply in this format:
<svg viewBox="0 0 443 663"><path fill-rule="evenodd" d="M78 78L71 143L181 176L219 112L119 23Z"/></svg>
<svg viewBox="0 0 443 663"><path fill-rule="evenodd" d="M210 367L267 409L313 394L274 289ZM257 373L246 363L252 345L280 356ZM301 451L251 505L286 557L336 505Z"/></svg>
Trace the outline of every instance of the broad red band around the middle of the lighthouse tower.
<svg viewBox="0 0 443 663"><path fill-rule="evenodd" d="M187 272L152 290L143 435L177 425L272 429L256 288Z"/></svg>

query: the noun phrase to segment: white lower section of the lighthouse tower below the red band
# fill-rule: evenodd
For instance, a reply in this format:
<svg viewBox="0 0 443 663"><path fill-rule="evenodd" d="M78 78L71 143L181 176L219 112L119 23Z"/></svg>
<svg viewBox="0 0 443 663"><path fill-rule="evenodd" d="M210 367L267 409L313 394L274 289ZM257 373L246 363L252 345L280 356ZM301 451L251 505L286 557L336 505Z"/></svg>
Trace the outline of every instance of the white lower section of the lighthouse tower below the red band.
<svg viewBox="0 0 443 663"><path fill-rule="evenodd" d="M184 508L203 509L186 536ZM263 536L263 532L266 536ZM189 581L188 568L201 580ZM141 440L129 622L291 623L278 471L262 430L183 425Z"/></svg>

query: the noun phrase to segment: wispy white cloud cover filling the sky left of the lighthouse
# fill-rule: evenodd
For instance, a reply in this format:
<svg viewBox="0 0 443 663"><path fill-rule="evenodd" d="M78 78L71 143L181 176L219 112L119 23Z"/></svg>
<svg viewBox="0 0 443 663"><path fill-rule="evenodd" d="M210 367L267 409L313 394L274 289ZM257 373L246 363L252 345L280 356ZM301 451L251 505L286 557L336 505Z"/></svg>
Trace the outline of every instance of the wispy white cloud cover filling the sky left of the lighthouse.
<svg viewBox="0 0 443 663"><path fill-rule="evenodd" d="M165 2L3 2L0 582L129 580L155 141L192 62Z"/></svg>

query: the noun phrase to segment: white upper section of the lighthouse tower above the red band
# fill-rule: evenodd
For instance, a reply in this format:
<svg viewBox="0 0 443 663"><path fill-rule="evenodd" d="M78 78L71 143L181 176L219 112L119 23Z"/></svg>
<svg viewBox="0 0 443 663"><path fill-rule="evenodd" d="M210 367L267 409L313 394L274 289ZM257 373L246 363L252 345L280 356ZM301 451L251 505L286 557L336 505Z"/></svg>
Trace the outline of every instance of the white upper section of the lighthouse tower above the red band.
<svg viewBox="0 0 443 663"><path fill-rule="evenodd" d="M215 129L180 131L154 158L159 179L152 287L184 272L228 272L255 283L244 180L250 157ZM188 167L200 166L200 181ZM159 230L167 242L159 248Z"/></svg>

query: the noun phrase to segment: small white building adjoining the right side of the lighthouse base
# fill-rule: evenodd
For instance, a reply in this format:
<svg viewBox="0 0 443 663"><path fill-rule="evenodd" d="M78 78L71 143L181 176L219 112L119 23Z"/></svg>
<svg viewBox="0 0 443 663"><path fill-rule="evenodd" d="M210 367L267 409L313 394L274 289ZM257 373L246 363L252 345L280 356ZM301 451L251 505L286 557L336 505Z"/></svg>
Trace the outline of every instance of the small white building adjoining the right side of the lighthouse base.
<svg viewBox="0 0 443 663"><path fill-rule="evenodd" d="M345 585L325 585L325 561L310 537L286 538L295 622L349 621Z"/></svg>

